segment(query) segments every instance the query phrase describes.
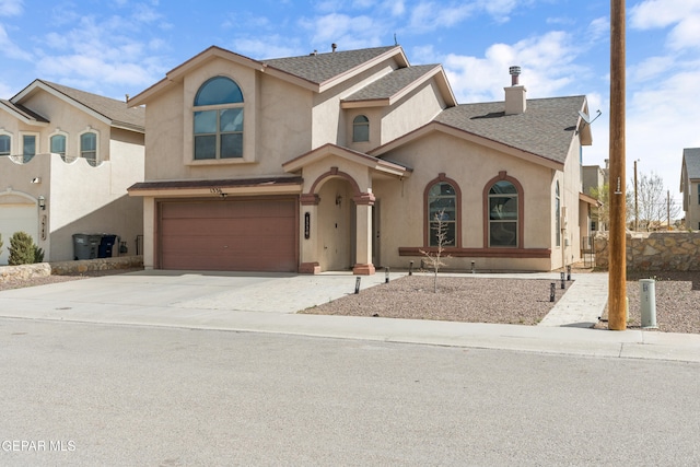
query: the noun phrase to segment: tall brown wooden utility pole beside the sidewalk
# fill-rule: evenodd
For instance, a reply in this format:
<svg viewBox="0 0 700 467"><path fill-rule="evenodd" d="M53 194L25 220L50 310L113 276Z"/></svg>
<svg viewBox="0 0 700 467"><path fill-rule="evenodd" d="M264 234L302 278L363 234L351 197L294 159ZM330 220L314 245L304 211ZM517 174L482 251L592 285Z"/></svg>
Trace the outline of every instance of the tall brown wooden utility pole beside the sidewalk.
<svg viewBox="0 0 700 467"><path fill-rule="evenodd" d="M625 237L625 0L610 0L610 245L608 329L627 329Z"/></svg>

